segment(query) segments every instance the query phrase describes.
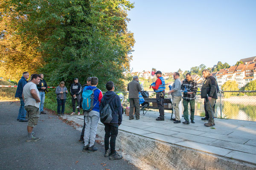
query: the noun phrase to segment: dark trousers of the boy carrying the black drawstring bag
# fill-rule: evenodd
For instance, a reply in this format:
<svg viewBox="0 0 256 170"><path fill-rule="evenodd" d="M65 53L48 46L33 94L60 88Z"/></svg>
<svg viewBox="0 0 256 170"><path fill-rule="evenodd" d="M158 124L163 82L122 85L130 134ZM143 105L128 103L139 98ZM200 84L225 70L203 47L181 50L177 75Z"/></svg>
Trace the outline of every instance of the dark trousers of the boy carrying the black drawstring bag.
<svg viewBox="0 0 256 170"><path fill-rule="evenodd" d="M108 150L110 145L111 153L116 151L116 136L118 134L118 124L117 123L104 123L105 125L105 150ZM110 138L110 142L109 142Z"/></svg>

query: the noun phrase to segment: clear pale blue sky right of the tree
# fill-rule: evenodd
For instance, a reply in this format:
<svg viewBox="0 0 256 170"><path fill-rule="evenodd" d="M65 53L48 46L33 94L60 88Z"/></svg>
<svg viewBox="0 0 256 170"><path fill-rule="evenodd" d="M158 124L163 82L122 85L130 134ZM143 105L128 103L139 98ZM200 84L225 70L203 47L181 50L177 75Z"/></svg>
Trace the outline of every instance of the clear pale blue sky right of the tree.
<svg viewBox="0 0 256 170"><path fill-rule="evenodd" d="M132 71L183 71L256 56L256 0L130 0Z"/></svg>

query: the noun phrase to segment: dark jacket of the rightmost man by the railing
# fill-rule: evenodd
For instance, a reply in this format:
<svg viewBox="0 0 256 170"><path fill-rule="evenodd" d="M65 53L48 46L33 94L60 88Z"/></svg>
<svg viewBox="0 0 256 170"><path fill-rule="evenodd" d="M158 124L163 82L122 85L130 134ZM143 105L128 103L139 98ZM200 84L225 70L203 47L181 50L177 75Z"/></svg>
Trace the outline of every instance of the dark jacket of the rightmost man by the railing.
<svg viewBox="0 0 256 170"><path fill-rule="evenodd" d="M217 93L218 84L216 82L216 79L211 75L207 76L201 88L201 98L207 98L208 94L209 97L218 99Z"/></svg>

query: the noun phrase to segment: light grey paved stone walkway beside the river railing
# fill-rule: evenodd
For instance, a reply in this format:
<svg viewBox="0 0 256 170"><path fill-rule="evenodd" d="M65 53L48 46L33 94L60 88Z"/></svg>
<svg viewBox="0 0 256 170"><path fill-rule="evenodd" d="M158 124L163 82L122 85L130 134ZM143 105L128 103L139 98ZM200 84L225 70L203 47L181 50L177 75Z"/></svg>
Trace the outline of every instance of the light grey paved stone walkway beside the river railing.
<svg viewBox="0 0 256 170"><path fill-rule="evenodd" d="M205 127L200 116L189 125L174 124L171 113L166 113L165 121L156 121L158 116L154 111L141 115L140 120L129 120L124 115L119 130L256 165L256 122L215 118L213 129ZM83 116L72 119L83 123Z"/></svg>

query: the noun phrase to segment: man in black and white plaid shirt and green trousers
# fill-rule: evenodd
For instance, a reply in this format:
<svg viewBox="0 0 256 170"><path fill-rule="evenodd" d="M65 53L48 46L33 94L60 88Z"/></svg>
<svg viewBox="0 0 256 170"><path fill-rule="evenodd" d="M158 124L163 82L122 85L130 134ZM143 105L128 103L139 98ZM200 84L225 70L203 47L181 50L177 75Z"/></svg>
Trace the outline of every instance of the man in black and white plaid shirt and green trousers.
<svg viewBox="0 0 256 170"><path fill-rule="evenodd" d="M191 77L190 73L186 74L186 79L183 80L181 84L181 90L185 91L183 94L183 116L185 119L185 122L182 122L183 124L189 124L189 105L190 105L190 119L191 123L194 122L194 114L195 114L195 94L197 93L197 83L196 81ZM187 92L186 92L187 91Z"/></svg>

